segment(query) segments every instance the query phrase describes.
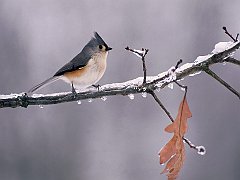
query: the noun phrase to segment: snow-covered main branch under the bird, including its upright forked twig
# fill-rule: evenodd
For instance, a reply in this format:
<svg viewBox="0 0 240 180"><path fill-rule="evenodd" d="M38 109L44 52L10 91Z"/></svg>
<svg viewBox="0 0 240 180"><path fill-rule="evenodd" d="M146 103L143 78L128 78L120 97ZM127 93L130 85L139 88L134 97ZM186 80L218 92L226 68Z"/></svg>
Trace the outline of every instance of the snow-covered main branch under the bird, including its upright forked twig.
<svg viewBox="0 0 240 180"><path fill-rule="evenodd" d="M229 62L240 66L240 61L234 59L232 56L234 52L239 48L240 42L235 39L235 42L220 42L215 45L214 50L205 56L199 56L192 63L186 63L178 67L181 62L178 62L176 66L171 67L169 70L162 72L156 76L146 76L145 56L148 49L135 50L129 47L126 50L132 51L138 56L141 56L144 62L143 71L144 76L138 77L133 80L129 80L122 83L106 84L96 88L89 88L84 92L78 92L77 95L72 95L71 92L62 92L54 94L33 94L27 93L0 95L0 108L5 107L28 107L29 105L50 105L64 102L72 102L84 100L102 98L106 99L107 96L114 95L133 95L137 93L150 93L156 89L164 88L170 83L180 81L187 76L193 76L201 71L207 72L212 76L209 71L209 66L216 63ZM215 78L216 79L216 78ZM216 79L218 80L218 79ZM240 98L239 92L234 90L226 82L225 87L231 89L235 95Z"/></svg>

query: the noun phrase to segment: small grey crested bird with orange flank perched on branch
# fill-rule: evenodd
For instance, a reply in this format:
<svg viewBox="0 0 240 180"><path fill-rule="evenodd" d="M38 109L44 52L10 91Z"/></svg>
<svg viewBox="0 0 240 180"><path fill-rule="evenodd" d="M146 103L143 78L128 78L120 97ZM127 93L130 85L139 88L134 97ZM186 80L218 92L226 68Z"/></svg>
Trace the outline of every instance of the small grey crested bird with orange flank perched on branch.
<svg viewBox="0 0 240 180"><path fill-rule="evenodd" d="M75 87L77 89L85 89L91 85L94 86L106 70L106 59L108 51L111 49L99 34L95 32L94 37L77 56L59 69L53 77L34 86L28 92L32 93L59 79L70 83L73 93L76 93Z"/></svg>

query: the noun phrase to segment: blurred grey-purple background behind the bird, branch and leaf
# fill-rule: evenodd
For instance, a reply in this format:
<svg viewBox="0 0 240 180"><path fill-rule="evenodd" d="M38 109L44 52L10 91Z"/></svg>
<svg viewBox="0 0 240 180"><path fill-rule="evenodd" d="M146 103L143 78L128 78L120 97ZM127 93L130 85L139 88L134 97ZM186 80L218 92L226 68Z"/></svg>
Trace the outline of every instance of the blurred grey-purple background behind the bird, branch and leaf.
<svg viewBox="0 0 240 180"><path fill-rule="evenodd" d="M240 1L0 1L0 94L26 92L71 60L97 31L113 47L100 84L142 75L133 48L149 48L147 72L156 75L192 62L230 41L222 30L240 32ZM239 52L235 58L240 59ZM212 69L240 89L239 67ZM193 117L187 137L205 156L186 146L179 179L239 179L240 101L205 73L187 77ZM70 91L57 82L38 93ZM157 93L175 117L183 91ZM0 110L1 180L166 179L158 151L172 137L167 116L148 96L108 97L27 109Z"/></svg>

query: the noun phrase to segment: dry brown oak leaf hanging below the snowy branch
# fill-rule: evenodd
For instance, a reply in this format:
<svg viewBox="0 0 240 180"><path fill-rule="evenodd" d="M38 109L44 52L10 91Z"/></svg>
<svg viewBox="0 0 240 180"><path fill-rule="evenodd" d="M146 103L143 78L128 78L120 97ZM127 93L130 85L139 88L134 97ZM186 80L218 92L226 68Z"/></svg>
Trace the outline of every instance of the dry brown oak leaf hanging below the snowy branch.
<svg viewBox="0 0 240 180"><path fill-rule="evenodd" d="M187 132L187 119L192 117L186 94L178 108L178 114L173 123L165 128L166 132L174 133L172 139L160 150L160 164L167 162L162 173L167 173L168 180L176 179L185 160L183 136Z"/></svg>

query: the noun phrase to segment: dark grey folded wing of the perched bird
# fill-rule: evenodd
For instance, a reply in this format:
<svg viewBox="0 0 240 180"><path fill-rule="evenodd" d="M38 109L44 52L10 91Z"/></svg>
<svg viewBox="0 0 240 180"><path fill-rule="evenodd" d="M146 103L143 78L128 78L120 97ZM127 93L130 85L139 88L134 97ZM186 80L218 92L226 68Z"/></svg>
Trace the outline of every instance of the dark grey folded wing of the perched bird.
<svg viewBox="0 0 240 180"><path fill-rule="evenodd" d="M59 69L54 76L61 76L66 72L71 72L87 65L88 61L91 59L90 55L87 55L83 51L75 56L69 63L65 64L61 69Z"/></svg>

